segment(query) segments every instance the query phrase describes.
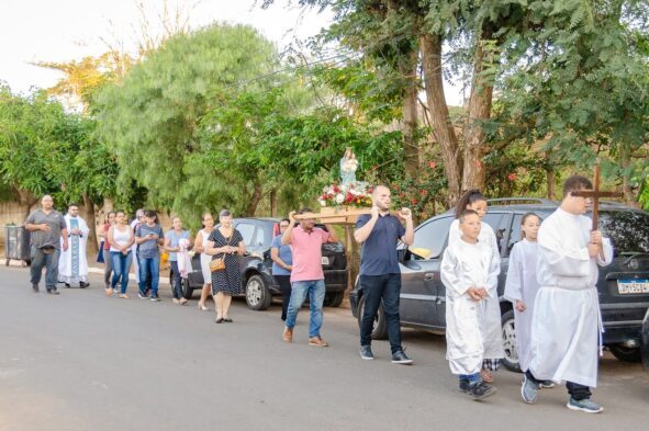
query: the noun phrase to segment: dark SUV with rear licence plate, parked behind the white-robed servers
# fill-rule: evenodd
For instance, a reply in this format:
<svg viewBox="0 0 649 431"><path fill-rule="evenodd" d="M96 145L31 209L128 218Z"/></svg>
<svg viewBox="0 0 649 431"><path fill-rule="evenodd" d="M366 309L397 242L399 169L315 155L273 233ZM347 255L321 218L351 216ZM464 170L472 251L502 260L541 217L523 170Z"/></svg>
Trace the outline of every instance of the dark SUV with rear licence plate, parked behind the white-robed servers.
<svg viewBox="0 0 649 431"><path fill-rule="evenodd" d="M501 251L499 296L505 347L504 365L518 371L518 356L514 332L512 304L502 295L507 275L508 256L521 238L521 219L534 212L547 218L558 203L537 199L490 200L484 222L496 234ZM602 203L600 229L609 237L614 247L611 265L600 269L597 290L604 321L604 344L622 361L640 360L640 331L649 308L649 213L616 203ZM435 216L415 229L413 247L432 250L433 258L424 260L400 245L401 266L401 325L444 332L446 328L446 288L439 276L441 254L447 245L450 224L455 214L448 212ZM363 297L358 281L349 294L351 311L362 316ZM372 338L385 338L387 328L382 309L379 309Z"/></svg>

